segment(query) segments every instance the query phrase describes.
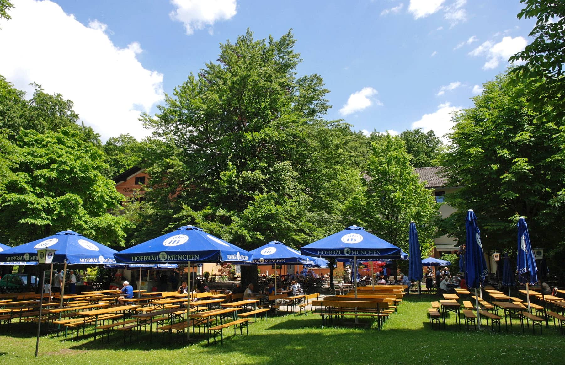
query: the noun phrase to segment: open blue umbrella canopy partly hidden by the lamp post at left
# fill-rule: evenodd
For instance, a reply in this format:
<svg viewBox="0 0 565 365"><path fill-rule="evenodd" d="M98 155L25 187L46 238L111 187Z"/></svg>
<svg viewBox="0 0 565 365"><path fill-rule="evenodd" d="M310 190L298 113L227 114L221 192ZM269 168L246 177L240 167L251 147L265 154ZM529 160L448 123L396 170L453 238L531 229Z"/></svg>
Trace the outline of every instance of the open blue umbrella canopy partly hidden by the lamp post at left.
<svg viewBox="0 0 565 365"><path fill-rule="evenodd" d="M67 264L109 264L115 263L118 251L73 231L57 232L53 236L28 242L0 252L0 261L7 264L21 261L37 261L37 249L56 250L54 263Z"/></svg>

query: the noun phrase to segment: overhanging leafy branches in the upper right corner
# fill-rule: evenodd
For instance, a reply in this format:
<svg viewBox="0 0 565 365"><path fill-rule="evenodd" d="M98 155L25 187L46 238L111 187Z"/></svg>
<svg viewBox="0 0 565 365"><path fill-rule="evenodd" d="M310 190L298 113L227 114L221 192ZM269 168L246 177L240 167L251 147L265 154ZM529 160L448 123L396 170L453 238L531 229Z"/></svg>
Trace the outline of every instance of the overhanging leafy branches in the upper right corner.
<svg viewBox="0 0 565 365"><path fill-rule="evenodd" d="M527 85L528 106L538 118L547 119L546 106L551 105L553 118L565 117L561 102L565 95L565 3L549 0L520 0L524 8L518 18L537 18L529 33L534 40L523 51L510 57L511 62L525 62L512 69L515 82Z"/></svg>

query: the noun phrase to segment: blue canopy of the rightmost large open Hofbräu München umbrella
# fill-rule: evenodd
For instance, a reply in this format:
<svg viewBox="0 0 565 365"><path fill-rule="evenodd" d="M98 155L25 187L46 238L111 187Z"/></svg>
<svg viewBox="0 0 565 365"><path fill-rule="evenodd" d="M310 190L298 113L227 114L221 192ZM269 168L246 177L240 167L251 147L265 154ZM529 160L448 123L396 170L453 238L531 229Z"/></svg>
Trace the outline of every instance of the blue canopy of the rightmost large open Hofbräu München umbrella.
<svg viewBox="0 0 565 365"><path fill-rule="evenodd" d="M303 255L345 258L353 261L381 259L402 259L402 250L375 236L362 227L352 225L343 231L332 234L302 247Z"/></svg>

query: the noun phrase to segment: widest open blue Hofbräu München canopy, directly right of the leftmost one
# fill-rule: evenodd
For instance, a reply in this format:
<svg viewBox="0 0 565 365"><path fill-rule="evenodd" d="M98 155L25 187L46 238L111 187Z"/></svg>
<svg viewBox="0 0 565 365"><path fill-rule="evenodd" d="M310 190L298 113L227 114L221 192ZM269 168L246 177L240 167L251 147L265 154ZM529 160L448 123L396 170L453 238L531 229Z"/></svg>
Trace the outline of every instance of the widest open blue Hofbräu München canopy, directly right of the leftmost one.
<svg viewBox="0 0 565 365"><path fill-rule="evenodd" d="M192 225L129 247L114 257L121 263L251 262L248 251Z"/></svg>

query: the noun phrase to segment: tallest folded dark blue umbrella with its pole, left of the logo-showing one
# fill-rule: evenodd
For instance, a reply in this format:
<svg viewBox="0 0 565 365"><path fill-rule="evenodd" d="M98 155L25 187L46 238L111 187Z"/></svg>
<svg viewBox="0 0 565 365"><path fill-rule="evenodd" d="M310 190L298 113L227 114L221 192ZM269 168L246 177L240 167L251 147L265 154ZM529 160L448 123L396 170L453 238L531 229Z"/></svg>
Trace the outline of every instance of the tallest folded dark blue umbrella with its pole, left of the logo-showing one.
<svg viewBox="0 0 565 365"><path fill-rule="evenodd" d="M481 318L479 312L479 296L477 296L477 289L481 289L484 284L486 270L486 260L483 254L483 244L481 243L481 231L477 226L477 216L472 209L467 211L467 218L465 219L465 228L467 231L467 245L465 251L465 261L467 267L465 270L465 280L467 287L475 289L476 308L477 308L477 323L481 327Z"/></svg>

